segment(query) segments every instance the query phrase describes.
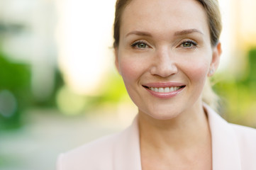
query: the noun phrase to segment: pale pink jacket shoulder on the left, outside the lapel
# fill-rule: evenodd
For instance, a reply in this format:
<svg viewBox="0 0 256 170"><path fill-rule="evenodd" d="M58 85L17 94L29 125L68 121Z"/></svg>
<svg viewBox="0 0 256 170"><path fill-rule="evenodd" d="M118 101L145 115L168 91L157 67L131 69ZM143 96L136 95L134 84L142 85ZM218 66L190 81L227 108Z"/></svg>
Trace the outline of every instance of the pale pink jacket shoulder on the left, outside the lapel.
<svg viewBox="0 0 256 170"><path fill-rule="evenodd" d="M57 169L104 169L111 166L113 147L120 134L101 137L99 140L89 142L72 149L69 152L60 154L57 160ZM102 168L101 168L102 166Z"/></svg>

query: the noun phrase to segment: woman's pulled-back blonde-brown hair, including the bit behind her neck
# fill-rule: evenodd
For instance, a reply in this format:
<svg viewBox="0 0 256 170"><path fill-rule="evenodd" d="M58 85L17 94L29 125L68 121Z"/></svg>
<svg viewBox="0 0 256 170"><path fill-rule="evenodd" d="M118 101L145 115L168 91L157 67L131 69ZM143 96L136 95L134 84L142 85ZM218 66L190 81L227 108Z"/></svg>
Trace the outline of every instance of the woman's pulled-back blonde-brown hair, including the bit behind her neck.
<svg viewBox="0 0 256 170"><path fill-rule="evenodd" d="M130 4L132 0L117 0L116 1L116 13L115 21L113 23L113 47L118 47L120 40L120 28L121 28L121 19L122 14L126 6ZM222 23L221 23L221 12L218 5L218 0L194 0L198 1L207 13L208 26L211 36L211 45L212 47L218 44L218 40L221 35ZM211 89L211 84L209 80L206 81L206 86L203 91L203 101L206 102L213 108L218 106L218 96Z"/></svg>

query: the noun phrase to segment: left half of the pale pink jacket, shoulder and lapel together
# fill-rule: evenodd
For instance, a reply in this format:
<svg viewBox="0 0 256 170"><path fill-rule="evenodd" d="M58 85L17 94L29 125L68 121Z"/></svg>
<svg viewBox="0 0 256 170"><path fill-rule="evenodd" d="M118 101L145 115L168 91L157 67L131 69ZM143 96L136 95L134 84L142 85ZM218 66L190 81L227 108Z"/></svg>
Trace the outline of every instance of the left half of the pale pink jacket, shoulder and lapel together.
<svg viewBox="0 0 256 170"><path fill-rule="evenodd" d="M140 164L137 117L125 130L60 154L57 170L136 169ZM133 162L133 164L130 164Z"/></svg>

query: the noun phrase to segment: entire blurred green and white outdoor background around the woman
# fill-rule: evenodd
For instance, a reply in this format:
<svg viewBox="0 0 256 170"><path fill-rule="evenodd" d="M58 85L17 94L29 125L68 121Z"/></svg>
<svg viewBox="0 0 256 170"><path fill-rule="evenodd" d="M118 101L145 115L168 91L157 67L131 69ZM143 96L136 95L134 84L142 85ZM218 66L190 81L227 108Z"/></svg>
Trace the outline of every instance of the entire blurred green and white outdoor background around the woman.
<svg viewBox="0 0 256 170"><path fill-rule="evenodd" d="M220 1L221 115L256 128L256 1ZM113 65L115 0L0 0L0 169L55 169L57 155L137 113Z"/></svg>

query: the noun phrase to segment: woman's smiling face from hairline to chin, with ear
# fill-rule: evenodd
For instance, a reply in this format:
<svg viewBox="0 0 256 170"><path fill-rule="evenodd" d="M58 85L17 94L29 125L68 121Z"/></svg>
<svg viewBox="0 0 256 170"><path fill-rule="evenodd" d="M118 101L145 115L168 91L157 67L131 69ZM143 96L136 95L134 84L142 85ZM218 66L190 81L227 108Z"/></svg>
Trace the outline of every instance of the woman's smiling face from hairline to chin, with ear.
<svg viewBox="0 0 256 170"><path fill-rule="evenodd" d="M170 119L200 106L220 45L194 0L133 0L123 11L116 67L140 113Z"/></svg>

